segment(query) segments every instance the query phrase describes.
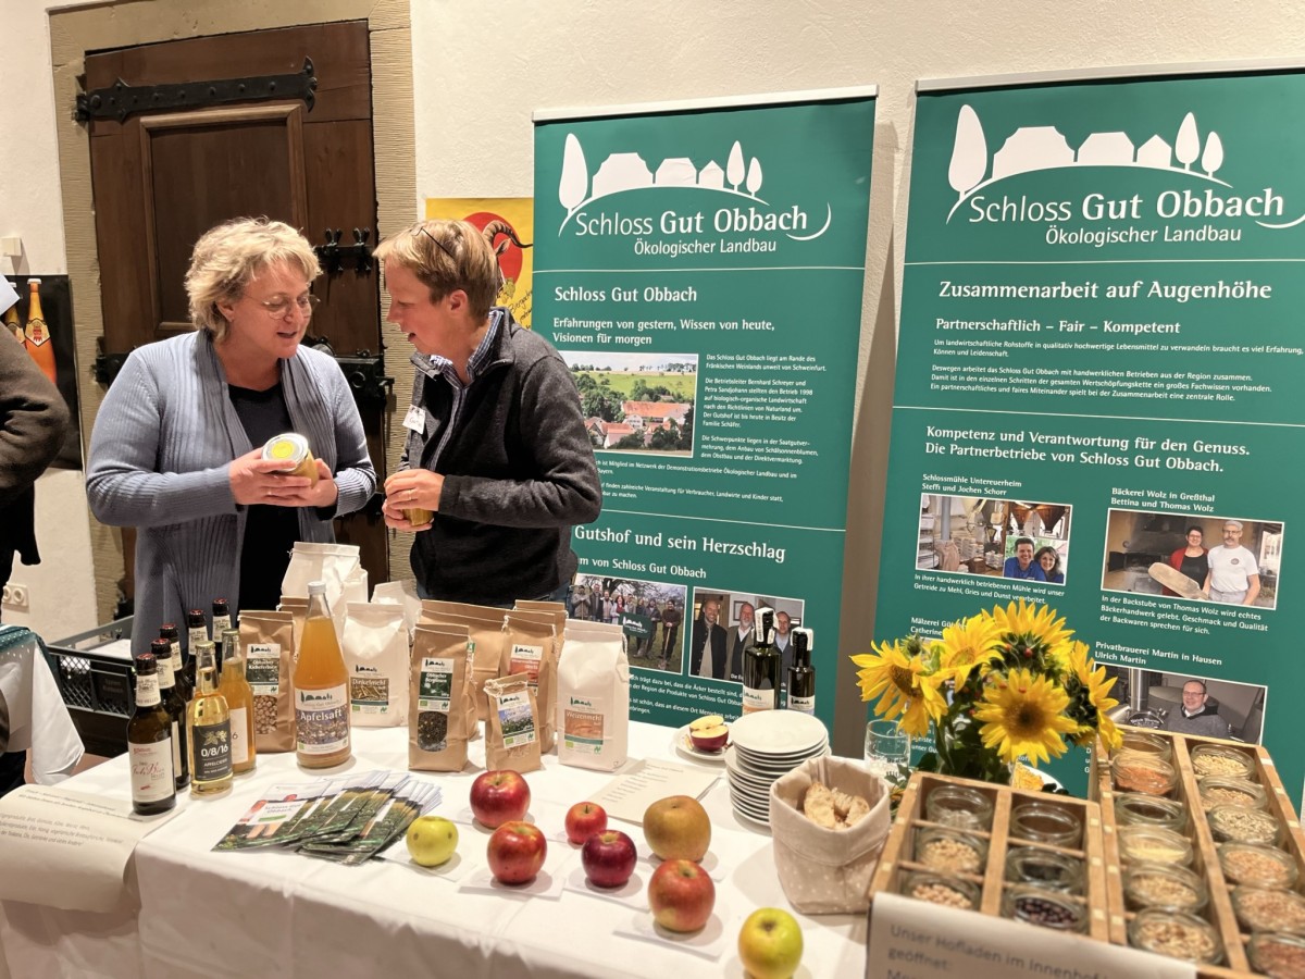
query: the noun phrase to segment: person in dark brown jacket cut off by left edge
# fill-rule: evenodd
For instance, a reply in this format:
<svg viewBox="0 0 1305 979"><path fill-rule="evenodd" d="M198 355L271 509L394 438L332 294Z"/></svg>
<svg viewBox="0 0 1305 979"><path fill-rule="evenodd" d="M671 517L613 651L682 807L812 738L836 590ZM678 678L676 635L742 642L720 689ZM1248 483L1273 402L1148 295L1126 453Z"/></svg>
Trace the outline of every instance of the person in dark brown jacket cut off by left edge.
<svg viewBox="0 0 1305 979"><path fill-rule="evenodd" d="M3 311L0 311L3 312ZM27 351L0 330L0 587L13 559L39 564L35 482L68 431L68 406ZM0 691L0 796L22 785L26 752L9 752L9 711Z"/></svg>

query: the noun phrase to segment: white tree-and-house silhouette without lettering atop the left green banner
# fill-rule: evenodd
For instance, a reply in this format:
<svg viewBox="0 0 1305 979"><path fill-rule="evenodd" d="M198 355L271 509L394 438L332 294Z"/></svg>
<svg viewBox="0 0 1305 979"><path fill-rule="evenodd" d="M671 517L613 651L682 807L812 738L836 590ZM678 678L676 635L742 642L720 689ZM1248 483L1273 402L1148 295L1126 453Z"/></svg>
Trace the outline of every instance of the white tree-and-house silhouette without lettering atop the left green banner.
<svg viewBox="0 0 1305 979"><path fill-rule="evenodd" d="M757 157L745 157L743 142L739 140L729 148L723 170L714 159L698 168L688 157L667 157L656 170L650 170L637 153L611 153L590 174L579 138L576 133L566 133L561 176L557 180L557 202L566 209L566 217L557 227L557 234L561 235L562 228L581 208L626 191L693 188L744 197L769 208L770 202L760 197L762 180L761 161ZM833 221L833 209L829 205L826 211L825 226L814 235L784 234L795 241L820 238Z"/></svg>

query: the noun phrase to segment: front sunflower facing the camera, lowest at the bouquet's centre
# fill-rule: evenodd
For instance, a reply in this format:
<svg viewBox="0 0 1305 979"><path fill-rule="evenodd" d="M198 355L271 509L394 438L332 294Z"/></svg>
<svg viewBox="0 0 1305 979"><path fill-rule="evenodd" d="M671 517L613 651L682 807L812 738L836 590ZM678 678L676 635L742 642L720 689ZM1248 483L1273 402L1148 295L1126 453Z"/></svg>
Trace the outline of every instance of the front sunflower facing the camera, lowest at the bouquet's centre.
<svg viewBox="0 0 1305 979"><path fill-rule="evenodd" d="M1028 670L1011 670L1005 683L989 684L975 721L983 722L979 735L988 748L996 748L1002 761L1021 756L1049 761L1065 753L1064 735L1078 724L1065 715L1069 694L1054 681Z"/></svg>

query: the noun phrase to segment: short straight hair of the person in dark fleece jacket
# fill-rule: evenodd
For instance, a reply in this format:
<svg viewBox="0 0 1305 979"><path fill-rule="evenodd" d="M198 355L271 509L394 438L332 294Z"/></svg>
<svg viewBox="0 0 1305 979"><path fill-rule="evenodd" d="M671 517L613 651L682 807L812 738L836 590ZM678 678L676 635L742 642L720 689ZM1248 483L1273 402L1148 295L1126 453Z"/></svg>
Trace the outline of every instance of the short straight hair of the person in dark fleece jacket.
<svg viewBox="0 0 1305 979"><path fill-rule="evenodd" d="M431 290L438 303L454 290L467 294L471 316L483 320L499 298L499 257L484 234L466 221L422 221L376 245L378 262L393 260Z"/></svg>

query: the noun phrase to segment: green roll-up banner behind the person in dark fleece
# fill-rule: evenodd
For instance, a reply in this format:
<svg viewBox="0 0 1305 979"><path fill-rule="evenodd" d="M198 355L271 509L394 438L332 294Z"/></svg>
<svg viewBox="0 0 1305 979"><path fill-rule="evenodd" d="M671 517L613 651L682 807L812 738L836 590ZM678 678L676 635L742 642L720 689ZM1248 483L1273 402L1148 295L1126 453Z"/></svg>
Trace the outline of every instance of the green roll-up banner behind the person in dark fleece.
<svg viewBox="0 0 1305 979"><path fill-rule="evenodd" d="M535 121L535 329L603 479L572 615L624 625L634 718L683 724L739 715L770 606L831 726L873 90Z"/></svg>

